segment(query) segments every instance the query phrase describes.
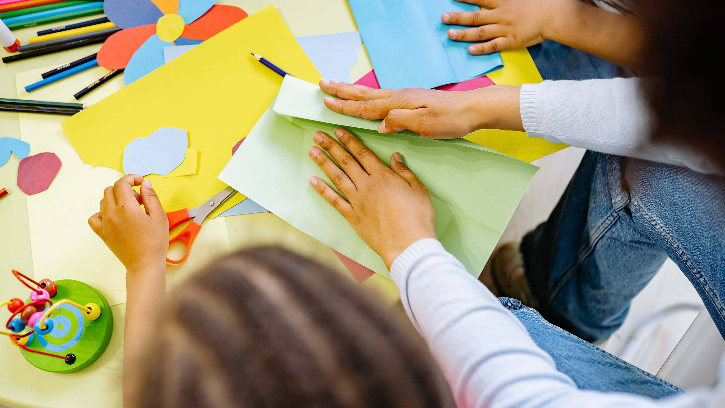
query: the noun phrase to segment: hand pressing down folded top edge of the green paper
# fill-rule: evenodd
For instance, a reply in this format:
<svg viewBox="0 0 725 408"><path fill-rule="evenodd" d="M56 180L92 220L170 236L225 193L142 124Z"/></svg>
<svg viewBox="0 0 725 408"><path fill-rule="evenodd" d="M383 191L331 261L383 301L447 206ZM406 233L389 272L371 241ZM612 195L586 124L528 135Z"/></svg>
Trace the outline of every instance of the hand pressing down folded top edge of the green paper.
<svg viewBox="0 0 725 408"><path fill-rule="evenodd" d="M480 128L523 130L518 86L492 85L472 91L372 89L337 81L320 81L335 112L365 119L383 119L381 134L410 129L430 139L454 139Z"/></svg>

